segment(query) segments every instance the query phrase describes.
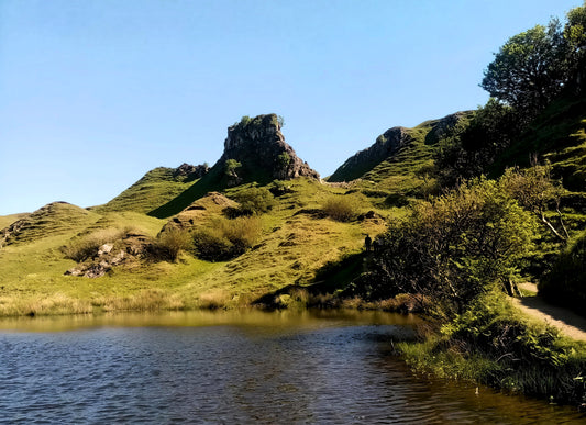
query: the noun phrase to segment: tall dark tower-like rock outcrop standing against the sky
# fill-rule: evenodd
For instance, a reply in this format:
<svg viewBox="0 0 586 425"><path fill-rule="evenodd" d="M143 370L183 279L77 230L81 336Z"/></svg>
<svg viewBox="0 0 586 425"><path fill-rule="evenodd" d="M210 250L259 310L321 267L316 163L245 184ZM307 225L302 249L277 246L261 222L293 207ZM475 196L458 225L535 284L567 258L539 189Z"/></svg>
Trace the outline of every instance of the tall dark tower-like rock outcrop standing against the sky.
<svg viewBox="0 0 586 425"><path fill-rule="evenodd" d="M228 128L224 153L214 167L226 167L232 186L252 180L288 180L296 177L319 179L319 174L302 161L280 132L277 115L243 118Z"/></svg>

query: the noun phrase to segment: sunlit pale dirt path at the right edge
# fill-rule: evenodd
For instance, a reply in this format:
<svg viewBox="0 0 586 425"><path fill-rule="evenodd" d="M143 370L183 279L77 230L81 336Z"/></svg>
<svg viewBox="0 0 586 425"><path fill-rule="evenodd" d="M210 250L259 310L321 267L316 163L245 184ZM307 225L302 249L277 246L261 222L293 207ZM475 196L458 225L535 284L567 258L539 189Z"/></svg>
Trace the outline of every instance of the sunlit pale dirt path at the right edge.
<svg viewBox="0 0 586 425"><path fill-rule="evenodd" d="M530 292L538 291L533 283L522 283L519 287ZM513 303L526 314L545 321L560 329L565 336L577 340L586 340L586 318L570 310L548 304L540 297L513 299Z"/></svg>

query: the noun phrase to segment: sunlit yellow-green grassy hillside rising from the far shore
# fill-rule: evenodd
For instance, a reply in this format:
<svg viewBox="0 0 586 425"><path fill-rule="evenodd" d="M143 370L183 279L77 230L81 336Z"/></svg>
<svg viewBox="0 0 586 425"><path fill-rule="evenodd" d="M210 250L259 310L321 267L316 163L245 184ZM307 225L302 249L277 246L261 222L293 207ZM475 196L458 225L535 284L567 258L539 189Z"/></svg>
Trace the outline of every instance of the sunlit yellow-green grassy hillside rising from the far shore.
<svg viewBox="0 0 586 425"><path fill-rule="evenodd" d="M317 270L328 261L360 250L364 233L375 235L385 228L380 220L342 223L314 214L327 199L342 195L345 189L310 179L288 186L287 193L277 197L275 206L262 215L255 245L233 260L208 262L179 254L176 262L131 261L98 279L64 276L76 262L66 258L62 247L128 226L155 239L167 221L133 211L87 211L58 204L53 219L41 214L30 222L26 241L0 248L0 315L250 305L288 284L312 283ZM363 212L388 214L366 198L362 202ZM196 226L206 226L229 205L232 201L212 194L170 222L192 220Z"/></svg>

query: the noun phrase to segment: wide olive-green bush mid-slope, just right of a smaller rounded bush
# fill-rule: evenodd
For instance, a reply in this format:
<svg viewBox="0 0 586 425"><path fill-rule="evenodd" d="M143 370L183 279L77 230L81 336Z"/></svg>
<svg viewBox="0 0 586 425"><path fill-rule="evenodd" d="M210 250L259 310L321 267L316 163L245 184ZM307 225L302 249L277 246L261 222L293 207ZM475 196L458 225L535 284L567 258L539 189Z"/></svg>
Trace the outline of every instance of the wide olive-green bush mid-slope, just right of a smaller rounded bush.
<svg viewBox="0 0 586 425"><path fill-rule="evenodd" d="M209 227L194 233L194 245L199 258L225 261L244 254L262 232L258 217L218 219Z"/></svg>

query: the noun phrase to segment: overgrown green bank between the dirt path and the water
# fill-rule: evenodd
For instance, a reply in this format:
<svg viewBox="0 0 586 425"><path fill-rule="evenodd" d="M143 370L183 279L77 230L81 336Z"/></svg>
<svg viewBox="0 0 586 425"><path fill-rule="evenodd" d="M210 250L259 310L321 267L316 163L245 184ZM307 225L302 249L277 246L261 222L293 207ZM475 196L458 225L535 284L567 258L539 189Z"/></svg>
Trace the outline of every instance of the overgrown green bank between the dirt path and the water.
<svg viewBox="0 0 586 425"><path fill-rule="evenodd" d="M555 403L586 403L586 344L524 317L490 293L454 322L399 349L417 373L482 383Z"/></svg>

